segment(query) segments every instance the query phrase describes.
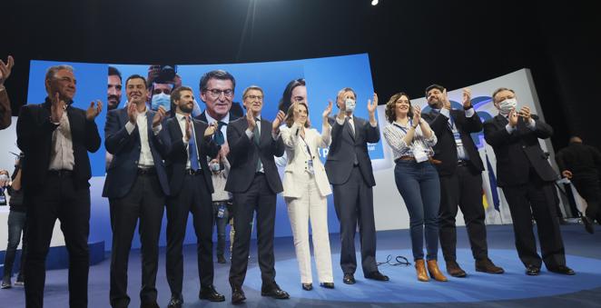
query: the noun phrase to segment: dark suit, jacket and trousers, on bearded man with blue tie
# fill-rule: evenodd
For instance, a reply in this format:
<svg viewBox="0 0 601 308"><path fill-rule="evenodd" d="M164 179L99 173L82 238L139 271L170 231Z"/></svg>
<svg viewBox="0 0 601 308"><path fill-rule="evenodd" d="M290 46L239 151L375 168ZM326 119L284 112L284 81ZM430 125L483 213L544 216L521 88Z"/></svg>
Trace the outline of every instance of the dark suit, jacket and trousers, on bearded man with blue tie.
<svg viewBox="0 0 601 308"><path fill-rule="evenodd" d="M165 126L171 140L167 155L167 174L171 195L167 198L167 282L172 297L182 297L183 262L182 243L186 232L188 214L192 212L197 238L198 272L202 287L212 286L212 178L207 156L217 154L218 147L211 138L204 138L208 124L192 120L196 136L196 153L201 170L192 173L186 168L189 162L188 144L184 144L177 115L167 120Z"/></svg>

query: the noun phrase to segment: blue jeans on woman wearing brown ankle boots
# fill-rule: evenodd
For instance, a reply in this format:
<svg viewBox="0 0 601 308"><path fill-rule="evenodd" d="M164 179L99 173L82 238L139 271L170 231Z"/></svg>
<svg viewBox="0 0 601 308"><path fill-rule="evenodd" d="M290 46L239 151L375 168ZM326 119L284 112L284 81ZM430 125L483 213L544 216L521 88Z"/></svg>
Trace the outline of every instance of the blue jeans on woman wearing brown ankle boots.
<svg viewBox="0 0 601 308"><path fill-rule="evenodd" d="M440 181L436 168L429 162L399 160L394 179L409 212L413 259L424 258L425 235L426 259L437 260Z"/></svg>

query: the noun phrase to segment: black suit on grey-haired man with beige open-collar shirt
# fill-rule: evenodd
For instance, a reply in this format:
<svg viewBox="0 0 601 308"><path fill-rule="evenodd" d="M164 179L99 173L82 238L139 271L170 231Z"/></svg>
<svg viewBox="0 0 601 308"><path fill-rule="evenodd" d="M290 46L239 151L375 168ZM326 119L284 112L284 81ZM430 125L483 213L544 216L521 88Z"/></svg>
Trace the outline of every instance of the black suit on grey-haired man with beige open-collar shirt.
<svg viewBox="0 0 601 308"><path fill-rule="evenodd" d="M16 124L17 144L23 158L23 186L27 209L28 251L25 259L25 300L27 307L44 303L45 259L56 218L61 221L69 251L69 303L87 306L90 253L90 179L88 152L100 147L100 134L83 109L69 106L66 114L73 143L74 168L69 172L48 171L53 134L58 125L50 122L51 102L27 104ZM56 132L58 134L58 132Z"/></svg>

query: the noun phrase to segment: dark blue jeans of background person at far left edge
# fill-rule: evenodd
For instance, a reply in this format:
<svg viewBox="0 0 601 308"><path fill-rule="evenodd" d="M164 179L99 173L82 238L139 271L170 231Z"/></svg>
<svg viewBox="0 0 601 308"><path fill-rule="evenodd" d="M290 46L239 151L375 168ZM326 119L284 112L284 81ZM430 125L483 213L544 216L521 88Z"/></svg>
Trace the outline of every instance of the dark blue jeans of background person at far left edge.
<svg viewBox="0 0 601 308"><path fill-rule="evenodd" d="M23 247L21 249L21 263L19 264L19 274L17 280L23 281L23 263L25 263L25 212L10 211L8 214L8 246L6 247L5 254L5 273L3 280L5 282L10 281L10 277L13 276L13 264L15 263L16 247L21 242L21 235L23 233Z"/></svg>

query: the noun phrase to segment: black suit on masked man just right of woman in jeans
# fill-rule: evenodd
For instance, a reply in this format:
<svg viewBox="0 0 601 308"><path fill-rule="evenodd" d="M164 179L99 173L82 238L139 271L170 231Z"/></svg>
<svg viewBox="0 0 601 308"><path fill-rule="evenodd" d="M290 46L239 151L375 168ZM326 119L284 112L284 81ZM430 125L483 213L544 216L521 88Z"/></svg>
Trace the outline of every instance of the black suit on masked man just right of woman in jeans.
<svg viewBox="0 0 601 308"><path fill-rule="evenodd" d="M482 121L475 112L468 117L463 110L450 110L449 115L452 119L434 111L423 114L423 118L428 121L438 139L434 145L434 159L441 161L441 164L436 165L440 178L440 246L446 261L456 261L455 217L459 207L468 229L472 255L474 259L482 260L488 258L487 228L484 224L486 216L481 193L484 164L476 144L469 135L482 130ZM462 160L459 160L451 124L458 132L463 150L467 154Z"/></svg>

